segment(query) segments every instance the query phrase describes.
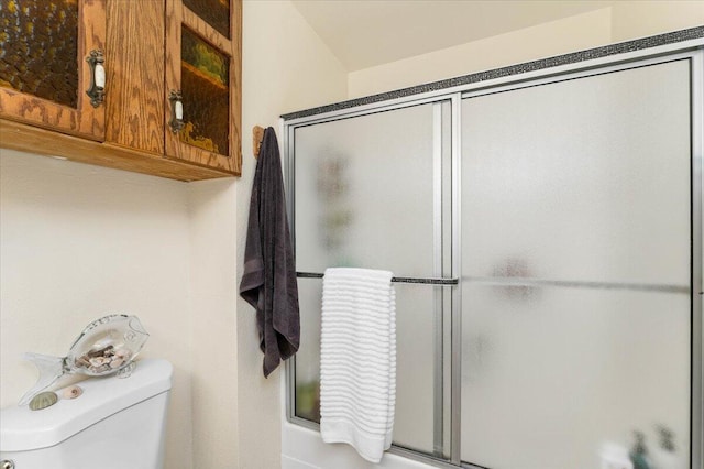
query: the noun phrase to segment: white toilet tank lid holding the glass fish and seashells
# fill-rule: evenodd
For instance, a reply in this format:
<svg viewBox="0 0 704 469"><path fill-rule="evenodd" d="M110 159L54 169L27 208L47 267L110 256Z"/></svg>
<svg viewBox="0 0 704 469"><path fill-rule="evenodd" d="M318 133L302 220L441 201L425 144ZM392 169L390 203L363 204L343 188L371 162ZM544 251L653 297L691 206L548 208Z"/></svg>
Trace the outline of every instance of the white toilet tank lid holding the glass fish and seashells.
<svg viewBox="0 0 704 469"><path fill-rule="evenodd" d="M84 393L41 411L12 406L0 414L0 450L29 451L58 445L82 429L172 388L174 368L163 359L144 359L129 378L89 378ZM59 391L61 395L61 391Z"/></svg>

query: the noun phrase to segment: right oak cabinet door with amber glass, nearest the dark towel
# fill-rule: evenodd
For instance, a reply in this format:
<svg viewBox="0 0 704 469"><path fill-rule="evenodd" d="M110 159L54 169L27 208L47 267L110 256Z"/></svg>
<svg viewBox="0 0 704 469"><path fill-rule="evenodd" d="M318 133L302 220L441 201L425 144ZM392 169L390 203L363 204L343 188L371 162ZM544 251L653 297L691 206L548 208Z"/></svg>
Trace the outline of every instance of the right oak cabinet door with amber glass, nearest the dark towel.
<svg viewBox="0 0 704 469"><path fill-rule="evenodd" d="M241 0L167 0L166 157L241 173Z"/></svg>

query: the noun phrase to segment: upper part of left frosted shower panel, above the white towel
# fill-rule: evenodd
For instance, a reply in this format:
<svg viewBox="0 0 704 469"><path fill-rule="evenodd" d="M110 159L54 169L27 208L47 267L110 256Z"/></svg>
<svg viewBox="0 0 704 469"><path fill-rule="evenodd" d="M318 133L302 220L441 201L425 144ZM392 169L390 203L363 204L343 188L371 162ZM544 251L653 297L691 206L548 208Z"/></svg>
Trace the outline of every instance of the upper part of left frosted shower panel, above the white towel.
<svg viewBox="0 0 704 469"><path fill-rule="evenodd" d="M295 131L296 264L433 269L432 105Z"/></svg>

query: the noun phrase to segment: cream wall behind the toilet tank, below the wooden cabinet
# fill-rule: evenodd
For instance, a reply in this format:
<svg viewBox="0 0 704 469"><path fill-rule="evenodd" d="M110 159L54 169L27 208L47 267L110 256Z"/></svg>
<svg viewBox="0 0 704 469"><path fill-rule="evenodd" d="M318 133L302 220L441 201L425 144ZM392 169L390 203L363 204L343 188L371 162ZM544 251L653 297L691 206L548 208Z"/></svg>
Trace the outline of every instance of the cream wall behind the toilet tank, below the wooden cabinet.
<svg viewBox="0 0 704 469"><path fill-rule="evenodd" d="M34 383L24 351L64 357L107 314L134 314L174 363L167 465L191 460L194 323L187 185L0 150L0 397Z"/></svg>

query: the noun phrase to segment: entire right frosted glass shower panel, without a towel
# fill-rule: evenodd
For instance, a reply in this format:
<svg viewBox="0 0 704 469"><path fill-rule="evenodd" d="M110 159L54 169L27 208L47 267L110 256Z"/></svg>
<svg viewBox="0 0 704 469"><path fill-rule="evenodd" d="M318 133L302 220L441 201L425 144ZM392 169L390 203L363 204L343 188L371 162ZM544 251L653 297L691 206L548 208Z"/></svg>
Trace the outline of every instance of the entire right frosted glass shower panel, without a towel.
<svg viewBox="0 0 704 469"><path fill-rule="evenodd" d="M689 61L463 100L462 460L689 467L690 132Z"/></svg>

